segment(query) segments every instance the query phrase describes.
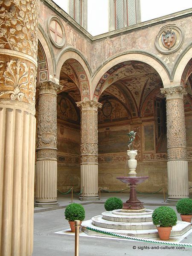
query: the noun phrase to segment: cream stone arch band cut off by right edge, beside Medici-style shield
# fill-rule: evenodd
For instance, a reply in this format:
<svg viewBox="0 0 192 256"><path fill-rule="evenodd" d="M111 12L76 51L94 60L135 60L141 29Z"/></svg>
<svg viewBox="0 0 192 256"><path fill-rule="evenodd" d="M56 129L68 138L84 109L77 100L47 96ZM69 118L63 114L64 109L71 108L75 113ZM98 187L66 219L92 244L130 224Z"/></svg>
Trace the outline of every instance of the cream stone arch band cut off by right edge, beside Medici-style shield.
<svg viewBox="0 0 192 256"><path fill-rule="evenodd" d="M173 86L182 84L182 75L188 62L192 58L192 44L183 50L183 54L177 59L174 70L173 70Z"/></svg>

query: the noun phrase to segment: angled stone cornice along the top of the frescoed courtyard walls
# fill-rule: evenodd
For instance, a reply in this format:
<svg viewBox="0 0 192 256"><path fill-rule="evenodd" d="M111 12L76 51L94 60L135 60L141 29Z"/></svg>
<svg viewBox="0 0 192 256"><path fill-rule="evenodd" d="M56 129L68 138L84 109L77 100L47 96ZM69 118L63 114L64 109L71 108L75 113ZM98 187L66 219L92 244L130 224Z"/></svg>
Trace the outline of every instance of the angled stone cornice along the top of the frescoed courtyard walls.
<svg viewBox="0 0 192 256"><path fill-rule="evenodd" d="M165 16L162 16L162 17L155 18L153 20L147 20L147 21L144 21L142 23L137 23L135 25L128 26L128 27L125 27L125 28L122 28L122 29L117 29L117 30L113 30L113 31L110 31L110 32L106 32L106 33L101 34L101 35L92 36L83 27L81 27L75 20L73 20L73 18L70 17L70 15L68 15L66 12L64 12L64 10L62 10L59 6L57 6L52 0L41 0L41 2L44 3L45 5L47 5L49 7L49 9L52 9L52 11L56 15L58 15L63 20L66 20L68 23L70 23L71 26L73 26L76 30L78 30L78 32L81 33L81 35L83 35L90 42L94 42L94 41L114 37L116 35L132 31L134 29L143 29L143 28L148 27L148 26L156 25L157 23L163 23L165 21L175 20L175 19L177 19L179 17L182 17L182 16L192 15L192 8L190 8L190 9L186 9L186 10L183 10L183 11L180 11L180 12L175 12L171 15L165 15Z"/></svg>

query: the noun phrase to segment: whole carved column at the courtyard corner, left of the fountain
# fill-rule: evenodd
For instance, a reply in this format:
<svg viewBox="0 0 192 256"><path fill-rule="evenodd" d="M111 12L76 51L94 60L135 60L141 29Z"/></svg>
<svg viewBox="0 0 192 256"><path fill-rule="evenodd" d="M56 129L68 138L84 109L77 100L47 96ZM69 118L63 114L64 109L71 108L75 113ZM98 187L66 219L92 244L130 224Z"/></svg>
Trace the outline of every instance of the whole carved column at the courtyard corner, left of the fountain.
<svg viewBox="0 0 192 256"><path fill-rule="evenodd" d="M76 102L81 108L81 189L84 200L97 200L98 196L98 119L97 108L102 104L94 101ZM79 198L82 200L82 196Z"/></svg>

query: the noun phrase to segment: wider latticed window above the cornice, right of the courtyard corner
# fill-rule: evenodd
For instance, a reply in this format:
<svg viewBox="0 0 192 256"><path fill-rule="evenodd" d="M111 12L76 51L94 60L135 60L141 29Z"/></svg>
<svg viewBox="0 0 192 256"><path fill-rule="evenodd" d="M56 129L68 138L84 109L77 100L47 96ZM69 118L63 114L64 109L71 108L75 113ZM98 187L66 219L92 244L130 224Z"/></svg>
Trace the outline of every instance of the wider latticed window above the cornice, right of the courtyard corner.
<svg viewBox="0 0 192 256"><path fill-rule="evenodd" d="M140 22L140 0L109 0L109 31Z"/></svg>

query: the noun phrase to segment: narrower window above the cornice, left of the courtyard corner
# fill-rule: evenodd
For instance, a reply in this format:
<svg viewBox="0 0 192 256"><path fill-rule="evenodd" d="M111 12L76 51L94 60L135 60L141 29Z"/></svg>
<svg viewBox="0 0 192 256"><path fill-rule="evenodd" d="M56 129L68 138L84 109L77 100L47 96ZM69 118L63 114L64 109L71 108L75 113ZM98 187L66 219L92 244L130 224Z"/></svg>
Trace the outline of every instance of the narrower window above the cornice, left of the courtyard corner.
<svg viewBox="0 0 192 256"><path fill-rule="evenodd" d="M87 29L87 0L69 0L69 15Z"/></svg>

